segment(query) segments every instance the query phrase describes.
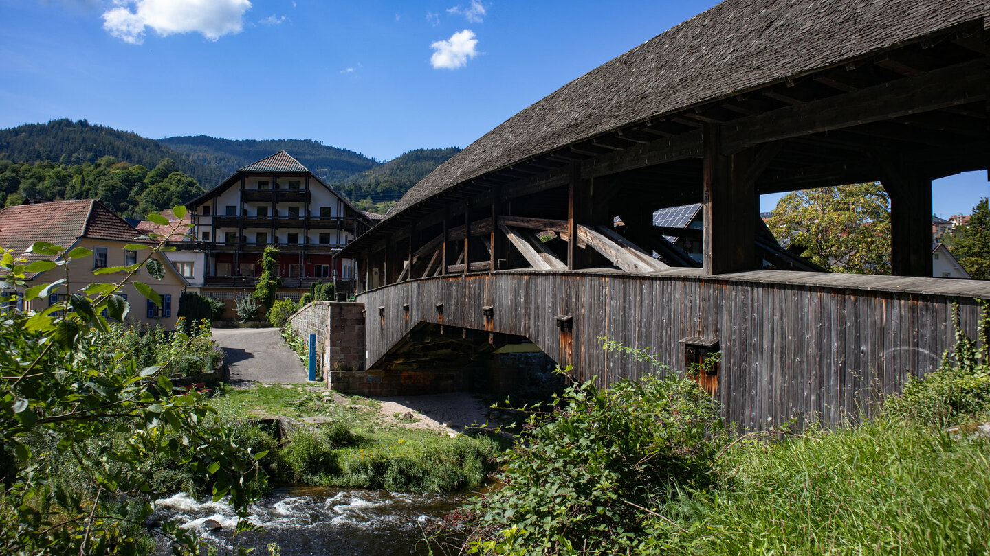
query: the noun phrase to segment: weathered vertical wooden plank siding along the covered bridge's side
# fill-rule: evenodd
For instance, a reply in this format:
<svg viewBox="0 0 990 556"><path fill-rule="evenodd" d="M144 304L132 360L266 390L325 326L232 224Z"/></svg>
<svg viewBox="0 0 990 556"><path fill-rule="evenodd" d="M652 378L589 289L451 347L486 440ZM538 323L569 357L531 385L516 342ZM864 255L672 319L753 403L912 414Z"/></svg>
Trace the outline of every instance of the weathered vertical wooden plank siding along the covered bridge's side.
<svg viewBox="0 0 990 556"><path fill-rule="evenodd" d="M357 299L368 309L370 370L421 322L527 336L561 366L572 365L577 378L602 385L640 378L647 368L606 354L600 336L649 347L677 372L685 370L682 338L714 338L723 354L717 395L725 417L762 429L792 417L836 423L868 413L909 376L938 367L954 342L953 301L975 337L974 298L990 297L990 284L980 281L884 285L889 277L851 277L843 286L835 275L804 274L499 271L414 279ZM940 282L955 295L935 293ZM494 308L493 319L485 319L485 306ZM571 333L558 328L557 315L571 316Z"/></svg>

